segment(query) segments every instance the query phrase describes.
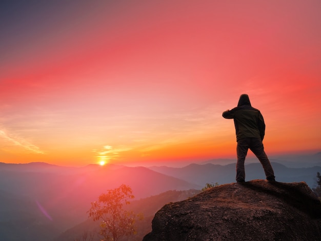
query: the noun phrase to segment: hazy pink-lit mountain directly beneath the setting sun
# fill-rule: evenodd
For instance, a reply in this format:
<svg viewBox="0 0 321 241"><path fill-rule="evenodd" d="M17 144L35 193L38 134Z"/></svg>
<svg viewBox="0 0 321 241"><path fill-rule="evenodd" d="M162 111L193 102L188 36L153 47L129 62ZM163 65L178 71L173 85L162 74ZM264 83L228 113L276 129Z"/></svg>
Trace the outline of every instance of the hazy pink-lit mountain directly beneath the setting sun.
<svg viewBox="0 0 321 241"><path fill-rule="evenodd" d="M6 238L0 240L21 240L21 236L26 241L49 240L47 233L54 237L54 233L58 235L86 220L90 203L107 189L121 184L129 185L137 199L168 190L201 188L144 167L95 165L70 168L44 163L1 164L0 210L4 223L0 237ZM12 223L10 220L15 217L18 219ZM31 224L28 230L14 226L22 220ZM44 230L47 231L42 232ZM29 233L30 236L27 235Z"/></svg>

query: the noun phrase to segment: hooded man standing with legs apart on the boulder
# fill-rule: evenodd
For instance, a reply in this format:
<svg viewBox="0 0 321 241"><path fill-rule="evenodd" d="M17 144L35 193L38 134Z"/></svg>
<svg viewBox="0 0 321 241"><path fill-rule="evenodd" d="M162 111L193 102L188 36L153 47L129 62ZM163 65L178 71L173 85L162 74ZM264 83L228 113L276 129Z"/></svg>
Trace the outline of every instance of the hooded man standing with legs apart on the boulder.
<svg viewBox="0 0 321 241"><path fill-rule="evenodd" d="M234 119L236 131L236 182L245 182L244 162L248 149L259 159L267 180L275 181L274 171L264 151L265 123L259 110L253 108L247 94L239 97L237 107L223 112L226 119Z"/></svg>

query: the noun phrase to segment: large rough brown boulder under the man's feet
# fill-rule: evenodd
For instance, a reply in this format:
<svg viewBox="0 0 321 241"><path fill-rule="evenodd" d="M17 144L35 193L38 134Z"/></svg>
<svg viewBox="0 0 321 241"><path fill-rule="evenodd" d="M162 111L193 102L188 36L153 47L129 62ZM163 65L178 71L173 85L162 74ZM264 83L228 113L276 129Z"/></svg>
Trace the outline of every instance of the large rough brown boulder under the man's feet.
<svg viewBox="0 0 321 241"><path fill-rule="evenodd" d="M220 185L160 209L155 240L321 240L321 204L304 182Z"/></svg>

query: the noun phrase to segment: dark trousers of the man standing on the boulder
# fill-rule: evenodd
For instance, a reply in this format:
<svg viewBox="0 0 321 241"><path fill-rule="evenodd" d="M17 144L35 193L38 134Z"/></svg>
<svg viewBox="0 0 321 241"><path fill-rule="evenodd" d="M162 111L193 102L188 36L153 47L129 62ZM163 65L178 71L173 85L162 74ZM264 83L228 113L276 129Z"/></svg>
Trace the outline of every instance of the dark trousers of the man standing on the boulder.
<svg viewBox="0 0 321 241"><path fill-rule="evenodd" d="M275 178L271 163L264 151L262 140L259 138L242 138L237 141L236 153L236 181L242 182L245 180L245 157L250 149L262 164L266 178L273 180Z"/></svg>

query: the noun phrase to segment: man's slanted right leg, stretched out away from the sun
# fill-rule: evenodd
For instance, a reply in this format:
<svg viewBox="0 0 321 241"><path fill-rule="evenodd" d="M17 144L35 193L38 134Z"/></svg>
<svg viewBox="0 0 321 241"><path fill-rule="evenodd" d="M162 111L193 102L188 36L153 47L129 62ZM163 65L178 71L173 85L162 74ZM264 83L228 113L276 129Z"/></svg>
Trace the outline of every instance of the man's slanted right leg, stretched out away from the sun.
<svg viewBox="0 0 321 241"><path fill-rule="evenodd" d="M251 138L250 150L258 158L259 162L262 164L266 178L268 180L274 180L274 171L271 166L270 160L264 151L263 143L258 138Z"/></svg>

